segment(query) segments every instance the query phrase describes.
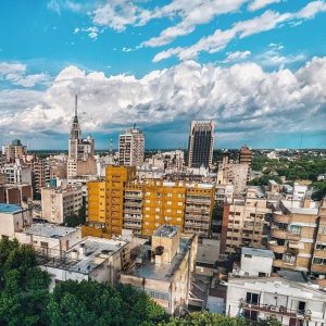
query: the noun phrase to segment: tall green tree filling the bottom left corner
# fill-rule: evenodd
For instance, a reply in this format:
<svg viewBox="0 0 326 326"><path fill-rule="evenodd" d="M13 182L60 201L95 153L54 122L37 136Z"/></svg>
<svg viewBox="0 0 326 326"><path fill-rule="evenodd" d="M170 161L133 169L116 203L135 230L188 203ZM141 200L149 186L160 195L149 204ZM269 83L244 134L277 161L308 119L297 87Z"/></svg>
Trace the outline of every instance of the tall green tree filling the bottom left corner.
<svg viewBox="0 0 326 326"><path fill-rule="evenodd" d="M0 325L43 325L49 276L37 266L34 250L0 241Z"/></svg>

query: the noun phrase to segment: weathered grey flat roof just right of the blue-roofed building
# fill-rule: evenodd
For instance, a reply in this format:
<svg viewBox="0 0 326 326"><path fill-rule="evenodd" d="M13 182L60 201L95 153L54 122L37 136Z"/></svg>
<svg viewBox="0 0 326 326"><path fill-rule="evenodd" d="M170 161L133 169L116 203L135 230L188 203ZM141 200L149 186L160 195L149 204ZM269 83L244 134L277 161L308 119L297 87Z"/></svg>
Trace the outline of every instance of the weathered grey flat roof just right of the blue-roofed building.
<svg viewBox="0 0 326 326"><path fill-rule="evenodd" d="M76 230L77 228L75 227L60 226L50 223L36 223L28 227L24 233L33 236L60 239Z"/></svg>

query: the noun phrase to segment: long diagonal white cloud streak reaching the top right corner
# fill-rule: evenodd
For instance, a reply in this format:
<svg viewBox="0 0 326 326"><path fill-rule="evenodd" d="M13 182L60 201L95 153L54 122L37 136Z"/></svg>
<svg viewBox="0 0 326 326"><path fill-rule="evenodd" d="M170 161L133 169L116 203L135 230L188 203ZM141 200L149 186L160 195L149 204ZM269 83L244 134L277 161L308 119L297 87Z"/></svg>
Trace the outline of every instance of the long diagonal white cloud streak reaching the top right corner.
<svg viewBox="0 0 326 326"><path fill-rule="evenodd" d="M197 57L200 52L214 53L224 49L235 38L241 39L254 34L274 29L286 23L290 24L310 20L313 18L317 13L325 11L326 2L324 1L312 1L300 11L293 13L279 13L267 10L260 16L236 23L229 29L217 29L214 34L201 38L197 43L188 48L171 48L159 52L153 58L153 62L158 62L174 55L177 55L180 60L189 60Z"/></svg>

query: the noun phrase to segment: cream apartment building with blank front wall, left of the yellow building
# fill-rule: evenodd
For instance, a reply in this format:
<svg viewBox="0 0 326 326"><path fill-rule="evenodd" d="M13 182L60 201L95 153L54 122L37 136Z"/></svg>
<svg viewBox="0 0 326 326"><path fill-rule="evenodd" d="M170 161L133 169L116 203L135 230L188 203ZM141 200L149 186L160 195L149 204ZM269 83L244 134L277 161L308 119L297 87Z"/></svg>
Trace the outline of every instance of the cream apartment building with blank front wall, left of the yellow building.
<svg viewBox="0 0 326 326"><path fill-rule="evenodd" d="M43 220L50 223L62 224L65 217L78 214L83 205L82 186L42 188L41 205Z"/></svg>

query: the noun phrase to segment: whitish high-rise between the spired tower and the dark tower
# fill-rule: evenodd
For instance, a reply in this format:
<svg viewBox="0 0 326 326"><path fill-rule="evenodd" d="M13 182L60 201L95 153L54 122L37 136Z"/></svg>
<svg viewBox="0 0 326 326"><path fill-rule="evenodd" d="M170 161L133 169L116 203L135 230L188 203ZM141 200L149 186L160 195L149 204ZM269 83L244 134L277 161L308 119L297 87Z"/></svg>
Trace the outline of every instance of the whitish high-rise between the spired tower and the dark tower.
<svg viewBox="0 0 326 326"><path fill-rule="evenodd" d="M125 166L140 166L143 163L145 136L134 125L118 137L118 163Z"/></svg>

